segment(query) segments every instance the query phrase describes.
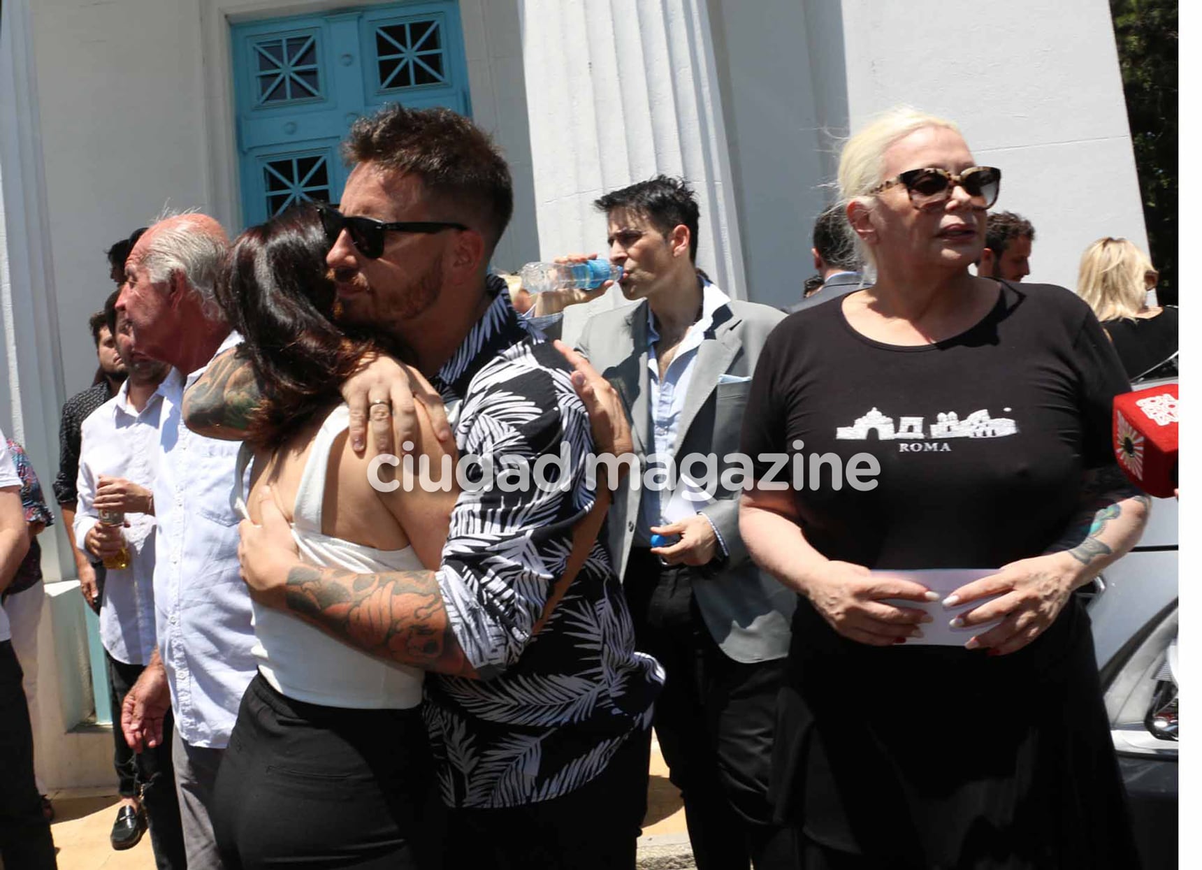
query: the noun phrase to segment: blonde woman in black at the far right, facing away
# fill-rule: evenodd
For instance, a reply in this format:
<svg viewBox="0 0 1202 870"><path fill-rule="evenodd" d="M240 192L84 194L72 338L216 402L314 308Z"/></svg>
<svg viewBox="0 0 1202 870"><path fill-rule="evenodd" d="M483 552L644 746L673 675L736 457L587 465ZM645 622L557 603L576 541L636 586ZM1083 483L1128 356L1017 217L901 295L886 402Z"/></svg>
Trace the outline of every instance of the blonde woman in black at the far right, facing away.
<svg viewBox="0 0 1202 870"><path fill-rule="evenodd" d="M1158 278L1127 239L1097 239L1081 257L1077 294L1094 309L1132 381L1177 375L1177 308L1148 305Z"/></svg>

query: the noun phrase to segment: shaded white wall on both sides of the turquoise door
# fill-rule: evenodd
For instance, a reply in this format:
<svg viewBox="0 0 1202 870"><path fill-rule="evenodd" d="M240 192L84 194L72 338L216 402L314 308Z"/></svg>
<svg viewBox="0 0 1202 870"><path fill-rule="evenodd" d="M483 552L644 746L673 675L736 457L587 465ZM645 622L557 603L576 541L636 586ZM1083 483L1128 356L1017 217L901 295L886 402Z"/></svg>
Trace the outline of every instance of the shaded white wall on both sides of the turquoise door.
<svg viewBox="0 0 1202 870"><path fill-rule="evenodd" d="M34 56L66 392L91 380L87 318L111 292L105 249L165 203L237 228L228 20L369 2L37 0ZM496 262L536 256L517 0L462 0L471 105L514 175L513 231Z"/></svg>

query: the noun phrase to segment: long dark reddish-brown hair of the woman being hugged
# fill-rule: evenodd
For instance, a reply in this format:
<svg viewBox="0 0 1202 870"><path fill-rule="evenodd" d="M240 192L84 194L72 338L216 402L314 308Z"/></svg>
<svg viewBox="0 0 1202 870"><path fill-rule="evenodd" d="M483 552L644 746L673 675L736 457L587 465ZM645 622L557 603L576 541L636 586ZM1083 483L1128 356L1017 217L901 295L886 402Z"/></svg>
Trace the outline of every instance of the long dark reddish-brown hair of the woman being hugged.
<svg viewBox="0 0 1202 870"><path fill-rule="evenodd" d="M371 350L334 324L337 296L326 267L329 242L317 210L297 205L233 242L215 293L242 333L263 398L248 427L258 447L278 447L339 397Z"/></svg>

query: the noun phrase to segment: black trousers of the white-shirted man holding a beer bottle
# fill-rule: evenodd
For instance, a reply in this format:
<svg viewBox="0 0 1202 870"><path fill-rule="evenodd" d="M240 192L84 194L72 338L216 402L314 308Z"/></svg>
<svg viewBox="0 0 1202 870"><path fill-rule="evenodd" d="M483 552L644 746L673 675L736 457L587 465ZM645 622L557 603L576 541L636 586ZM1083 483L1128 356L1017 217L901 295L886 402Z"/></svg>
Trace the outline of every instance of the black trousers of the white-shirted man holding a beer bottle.
<svg viewBox="0 0 1202 870"><path fill-rule="evenodd" d="M162 743L154 749L135 752L121 733L121 704L143 665L126 665L105 652L108 665L108 697L113 705L113 767L123 798L142 795L150 823L150 845L159 870L184 870L184 829L179 821L179 795L175 793L175 768L171 761L171 735L174 720L171 710L162 722Z"/></svg>

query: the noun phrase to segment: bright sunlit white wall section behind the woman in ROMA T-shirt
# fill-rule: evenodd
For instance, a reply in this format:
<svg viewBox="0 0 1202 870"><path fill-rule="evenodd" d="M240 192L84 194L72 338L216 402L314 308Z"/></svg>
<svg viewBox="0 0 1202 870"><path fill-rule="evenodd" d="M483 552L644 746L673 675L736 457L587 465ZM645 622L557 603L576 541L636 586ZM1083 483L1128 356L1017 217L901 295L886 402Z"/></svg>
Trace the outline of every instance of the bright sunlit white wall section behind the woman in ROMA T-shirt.
<svg viewBox="0 0 1202 870"><path fill-rule="evenodd" d="M909 102L1002 169L996 209L1035 225L1029 281L1075 287L1101 236L1147 250L1106 0L843 0L853 125Z"/></svg>

